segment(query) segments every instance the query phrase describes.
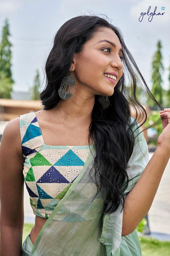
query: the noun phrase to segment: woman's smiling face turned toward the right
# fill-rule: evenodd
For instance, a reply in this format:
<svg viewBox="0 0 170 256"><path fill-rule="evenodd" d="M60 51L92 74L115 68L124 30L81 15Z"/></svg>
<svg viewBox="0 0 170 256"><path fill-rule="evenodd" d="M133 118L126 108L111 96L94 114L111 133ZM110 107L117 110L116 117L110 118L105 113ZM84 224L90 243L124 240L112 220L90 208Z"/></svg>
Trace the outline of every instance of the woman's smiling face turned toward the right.
<svg viewBox="0 0 170 256"><path fill-rule="evenodd" d="M108 40L111 44L101 42L103 40ZM92 94L113 95L114 87L123 74L121 56L121 44L116 33L110 28L101 28L101 31L95 33L95 37L84 44L83 51L74 55L75 69L72 75L76 79L77 89L84 86ZM112 82L113 78L108 79L104 75L112 72L117 76L115 83Z"/></svg>

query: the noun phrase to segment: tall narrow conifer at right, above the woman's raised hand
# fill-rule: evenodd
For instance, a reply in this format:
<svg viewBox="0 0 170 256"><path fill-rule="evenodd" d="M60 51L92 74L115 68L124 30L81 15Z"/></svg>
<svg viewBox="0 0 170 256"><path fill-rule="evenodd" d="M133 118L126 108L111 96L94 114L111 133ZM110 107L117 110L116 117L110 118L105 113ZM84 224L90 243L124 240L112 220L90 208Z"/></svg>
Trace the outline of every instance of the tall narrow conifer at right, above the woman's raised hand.
<svg viewBox="0 0 170 256"><path fill-rule="evenodd" d="M161 53L161 41L159 40L157 43L157 50L153 56L152 61L152 94L155 99L163 104L163 88L161 86L162 83L162 72L164 71L163 63L162 63L162 53ZM157 106L156 102L153 101L153 106Z"/></svg>

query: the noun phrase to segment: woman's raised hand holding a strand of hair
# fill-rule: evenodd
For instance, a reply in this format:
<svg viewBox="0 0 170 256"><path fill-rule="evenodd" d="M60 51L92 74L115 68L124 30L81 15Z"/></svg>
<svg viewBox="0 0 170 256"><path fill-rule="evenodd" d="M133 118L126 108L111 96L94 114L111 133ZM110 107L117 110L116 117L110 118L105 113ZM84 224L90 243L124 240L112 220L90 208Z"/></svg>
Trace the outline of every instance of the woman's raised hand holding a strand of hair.
<svg viewBox="0 0 170 256"><path fill-rule="evenodd" d="M170 108L159 111L160 117L162 117L163 131L158 137L158 146L164 150L170 152Z"/></svg>

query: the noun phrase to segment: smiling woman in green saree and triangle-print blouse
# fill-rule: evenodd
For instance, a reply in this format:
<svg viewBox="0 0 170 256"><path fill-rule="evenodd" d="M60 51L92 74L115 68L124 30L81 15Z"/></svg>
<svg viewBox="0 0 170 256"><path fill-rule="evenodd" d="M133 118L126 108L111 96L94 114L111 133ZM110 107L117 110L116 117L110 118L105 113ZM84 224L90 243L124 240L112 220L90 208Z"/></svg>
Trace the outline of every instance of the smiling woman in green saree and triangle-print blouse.
<svg viewBox="0 0 170 256"><path fill-rule="evenodd" d="M163 132L149 161L130 111L131 104L147 119L136 81L163 107L121 31L98 16L63 24L46 75L43 109L11 120L3 132L1 255L141 255L136 227L170 157L170 109L160 115ZM22 246L24 181L36 217Z"/></svg>

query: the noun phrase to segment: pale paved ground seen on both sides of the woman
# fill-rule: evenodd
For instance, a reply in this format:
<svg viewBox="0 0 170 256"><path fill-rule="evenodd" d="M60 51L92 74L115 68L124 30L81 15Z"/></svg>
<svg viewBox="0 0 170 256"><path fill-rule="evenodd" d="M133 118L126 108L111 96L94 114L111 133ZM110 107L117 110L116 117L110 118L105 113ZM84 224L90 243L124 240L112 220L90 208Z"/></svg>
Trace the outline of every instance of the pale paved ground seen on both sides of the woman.
<svg viewBox="0 0 170 256"><path fill-rule="evenodd" d="M7 124L0 121L0 134ZM153 153L149 153L151 158ZM24 221L34 223L35 216L30 205L29 194L24 184ZM151 236L170 241L170 160L160 181L154 201L148 213Z"/></svg>

